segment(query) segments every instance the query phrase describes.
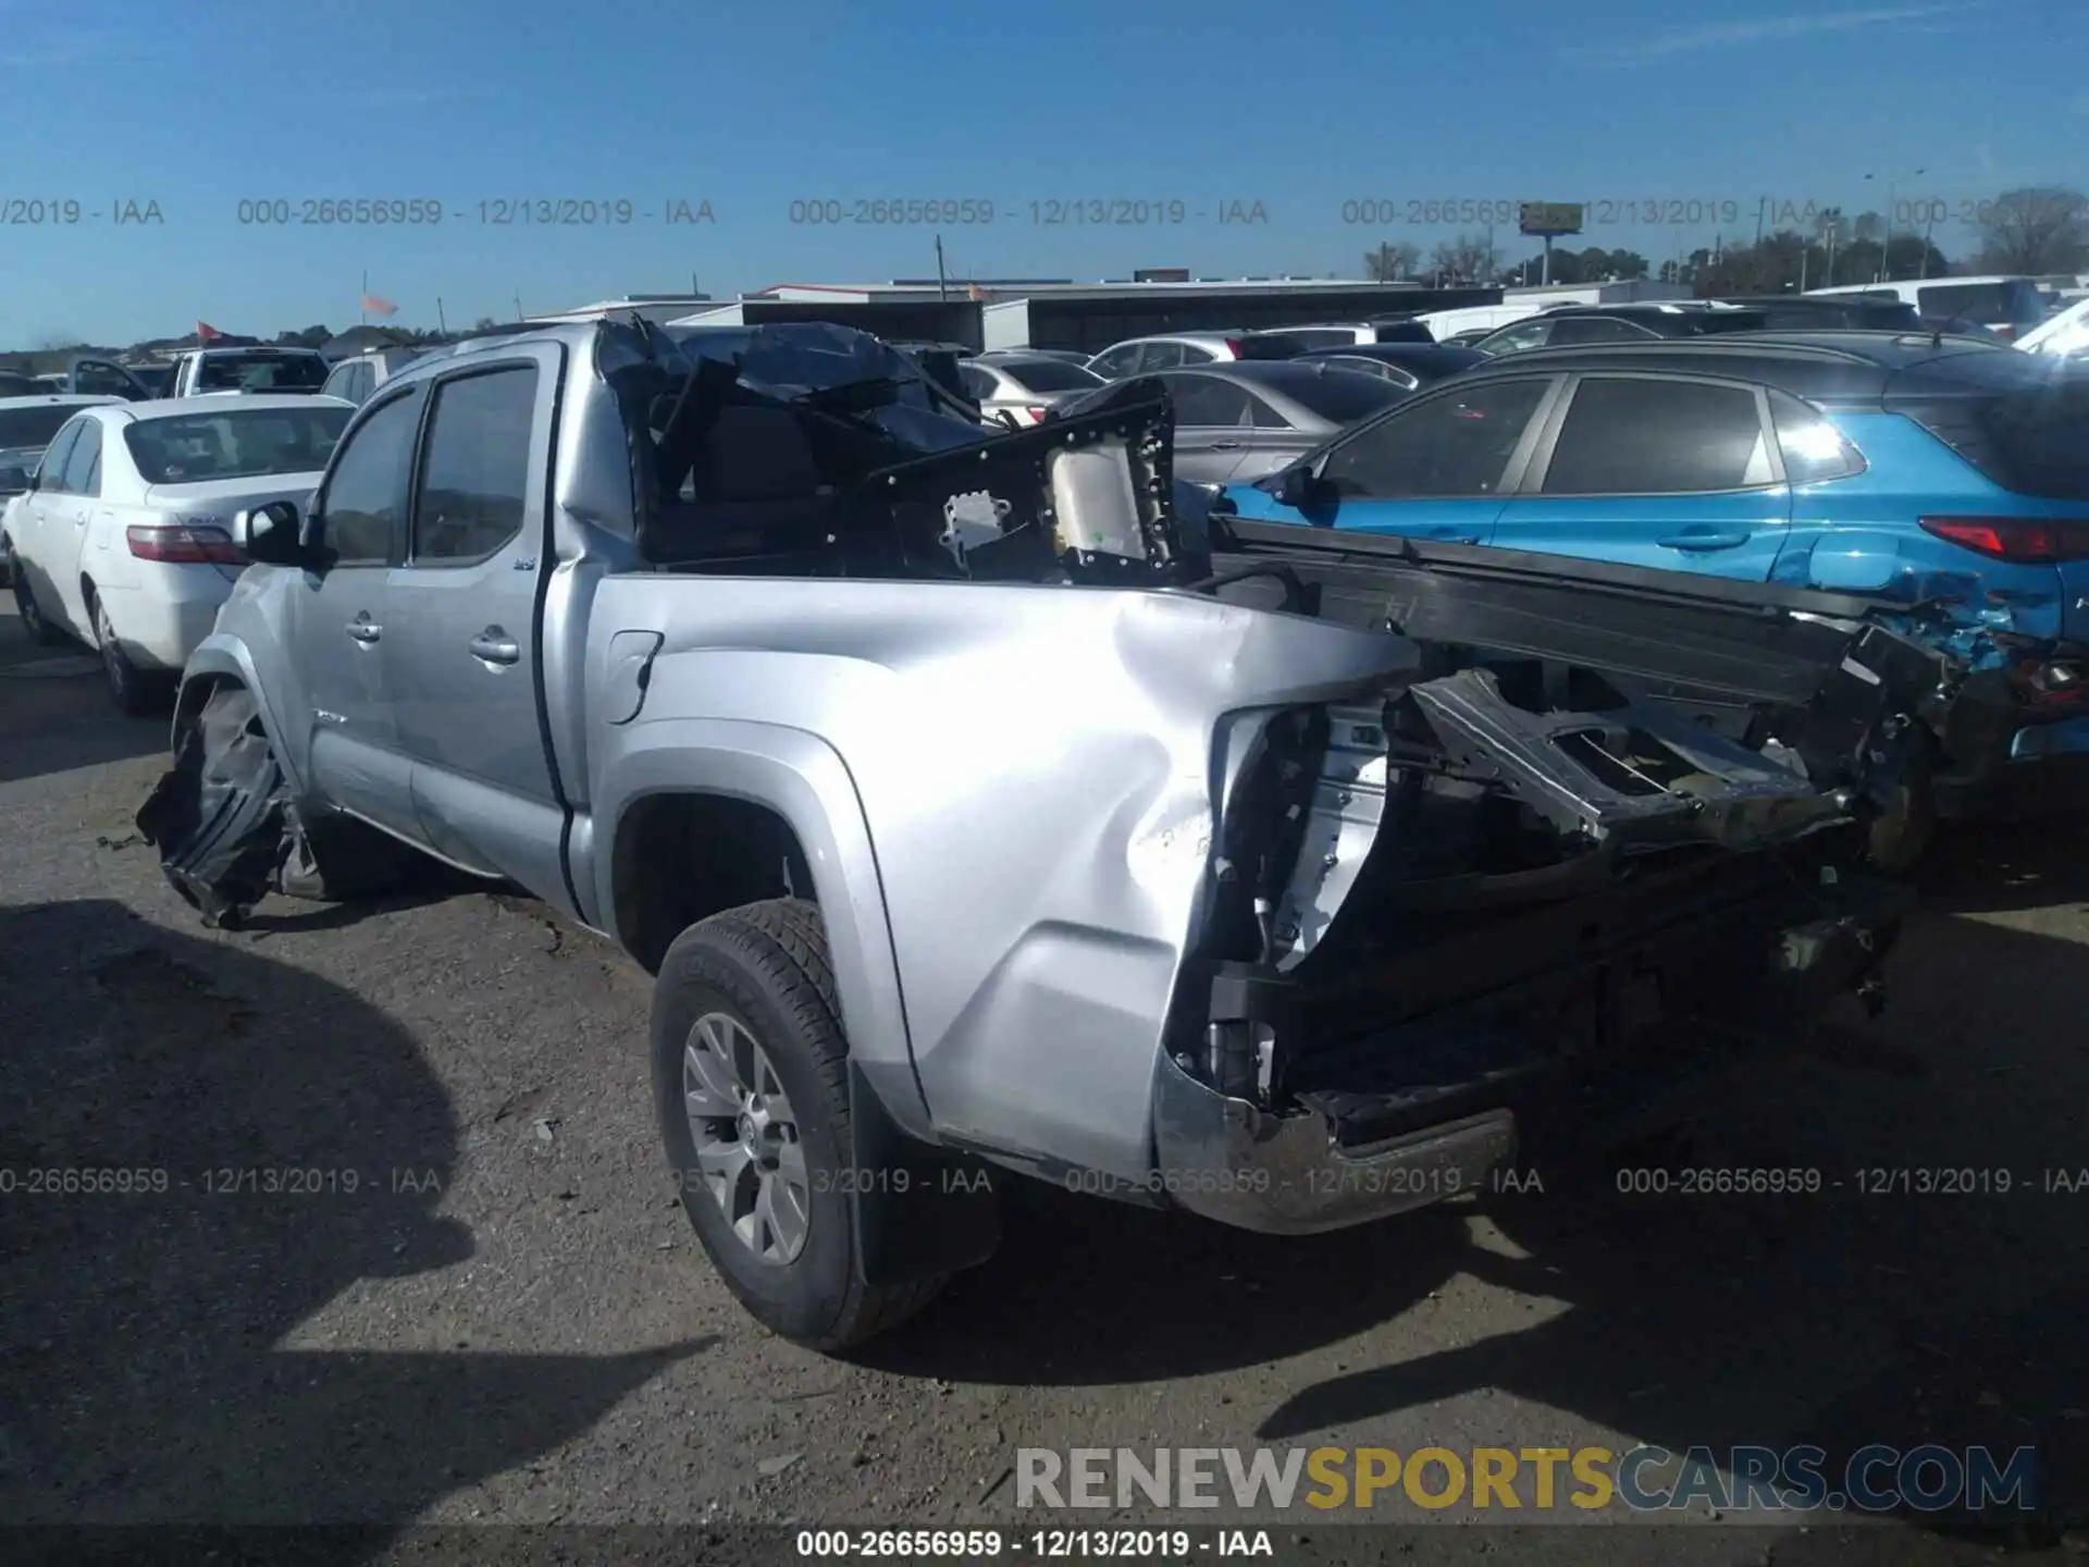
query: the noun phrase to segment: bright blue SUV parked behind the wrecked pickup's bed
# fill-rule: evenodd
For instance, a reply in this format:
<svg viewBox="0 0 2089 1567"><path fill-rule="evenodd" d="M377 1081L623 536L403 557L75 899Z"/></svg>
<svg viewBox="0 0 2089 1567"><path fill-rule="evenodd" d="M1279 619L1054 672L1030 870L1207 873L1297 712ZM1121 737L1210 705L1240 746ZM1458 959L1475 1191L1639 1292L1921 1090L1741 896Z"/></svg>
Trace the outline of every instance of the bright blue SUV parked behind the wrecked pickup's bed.
<svg viewBox="0 0 2089 1567"><path fill-rule="evenodd" d="M2089 758L2089 374L2039 355L1926 332L1535 349L1214 506L1859 595L1959 671L1947 813L2003 763Z"/></svg>

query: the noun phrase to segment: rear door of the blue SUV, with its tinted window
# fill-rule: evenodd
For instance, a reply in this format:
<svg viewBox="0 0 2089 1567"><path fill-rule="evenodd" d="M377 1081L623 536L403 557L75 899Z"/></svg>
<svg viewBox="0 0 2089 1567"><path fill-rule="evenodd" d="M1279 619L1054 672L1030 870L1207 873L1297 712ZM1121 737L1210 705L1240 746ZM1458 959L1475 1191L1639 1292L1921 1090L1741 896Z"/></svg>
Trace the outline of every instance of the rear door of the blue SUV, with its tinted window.
<svg viewBox="0 0 2089 1567"><path fill-rule="evenodd" d="M1792 518L1759 387L1579 376L1494 541L1627 566L1769 581Z"/></svg>

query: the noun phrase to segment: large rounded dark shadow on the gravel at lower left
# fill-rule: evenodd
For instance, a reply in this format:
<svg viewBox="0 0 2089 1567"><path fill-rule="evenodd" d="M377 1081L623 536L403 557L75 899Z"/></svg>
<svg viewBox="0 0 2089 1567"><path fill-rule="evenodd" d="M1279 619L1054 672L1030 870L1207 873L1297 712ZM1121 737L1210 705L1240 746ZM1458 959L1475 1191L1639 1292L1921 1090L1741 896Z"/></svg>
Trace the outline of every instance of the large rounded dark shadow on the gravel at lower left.
<svg viewBox="0 0 2089 1567"><path fill-rule="evenodd" d="M441 1084L303 969L117 903L0 909L0 1038L10 1523L378 1525L301 1554L355 1561L706 1348L280 1348L343 1291L472 1254L428 1180L457 1162Z"/></svg>

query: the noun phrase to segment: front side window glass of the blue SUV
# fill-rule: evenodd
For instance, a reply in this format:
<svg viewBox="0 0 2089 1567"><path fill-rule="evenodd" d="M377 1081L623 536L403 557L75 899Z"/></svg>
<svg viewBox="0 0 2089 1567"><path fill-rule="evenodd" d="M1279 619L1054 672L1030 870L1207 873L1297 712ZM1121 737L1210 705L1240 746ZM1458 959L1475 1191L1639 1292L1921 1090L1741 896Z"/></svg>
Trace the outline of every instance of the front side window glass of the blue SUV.
<svg viewBox="0 0 2089 1567"><path fill-rule="evenodd" d="M1329 453L1337 495L1496 495L1550 380L1496 380L1379 420Z"/></svg>

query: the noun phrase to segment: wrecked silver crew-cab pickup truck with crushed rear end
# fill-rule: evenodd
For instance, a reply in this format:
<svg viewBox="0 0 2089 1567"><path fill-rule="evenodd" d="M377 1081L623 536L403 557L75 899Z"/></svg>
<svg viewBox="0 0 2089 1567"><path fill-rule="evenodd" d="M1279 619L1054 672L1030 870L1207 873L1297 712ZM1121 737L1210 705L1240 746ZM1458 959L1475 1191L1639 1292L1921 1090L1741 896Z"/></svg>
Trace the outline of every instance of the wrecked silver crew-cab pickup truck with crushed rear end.
<svg viewBox="0 0 2089 1567"><path fill-rule="evenodd" d="M704 1249L827 1350L1005 1172L1358 1224L1880 999L1893 637L1636 585L1560 656L1540 568L1214 560L1170 443L840 328L466 345L236 520L140 827L219 926L418 852L616 940Z"/></svg>

